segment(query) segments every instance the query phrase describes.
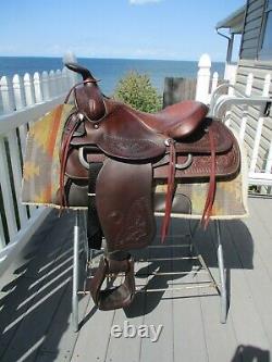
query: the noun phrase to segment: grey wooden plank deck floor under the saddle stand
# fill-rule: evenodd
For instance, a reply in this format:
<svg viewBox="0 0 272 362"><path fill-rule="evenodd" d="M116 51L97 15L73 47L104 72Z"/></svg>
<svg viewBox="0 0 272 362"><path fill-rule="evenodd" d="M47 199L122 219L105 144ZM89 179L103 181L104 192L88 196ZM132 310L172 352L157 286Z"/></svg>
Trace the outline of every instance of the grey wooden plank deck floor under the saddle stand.
<svg viewBox="0 0 272 362"><path fill-rule="evenodd" d="M127 310L110 312L97 311L85 296L77 334L71 323L73 214L58 219L52 212L0 279L0 361L270 361L272 200L249 203L247 221L222 223L230 290L225 325L219 322L219 297L205 289L190 298L185 297L191 290L139 294ZM172 236L183 234L184 227L184 222L173 221ZM196 242L218 279L213 228L197 233ZM173 251L169 248L163 254L173 257ZM177 266L189 272L193 265L188 261L143 265L149 271ZM158 288L189 283L191 277L154 277L148 283ZM139 276L138 282L147 280ZM159 340L111 336L112 325L123 326L124 321L134 326L162 324Z"/></svg>

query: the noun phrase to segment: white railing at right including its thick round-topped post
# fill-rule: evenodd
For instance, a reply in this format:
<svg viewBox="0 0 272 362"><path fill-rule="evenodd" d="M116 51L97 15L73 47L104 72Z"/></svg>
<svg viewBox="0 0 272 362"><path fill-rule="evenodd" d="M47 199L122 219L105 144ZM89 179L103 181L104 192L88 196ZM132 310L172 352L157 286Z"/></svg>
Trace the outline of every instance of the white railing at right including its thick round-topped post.
<svg viewBox="0 0 272 362"><path fill-rule="evenodd" d="M201 55L198 66L196 99L210 105L210 115L223 116L247 146L249 184L272 186L271 72L263 71L261 77L260 70L257 76L249 73L237 86L234 67L228 82L218 87L218 74L211 76L208 54Z"/></svg>

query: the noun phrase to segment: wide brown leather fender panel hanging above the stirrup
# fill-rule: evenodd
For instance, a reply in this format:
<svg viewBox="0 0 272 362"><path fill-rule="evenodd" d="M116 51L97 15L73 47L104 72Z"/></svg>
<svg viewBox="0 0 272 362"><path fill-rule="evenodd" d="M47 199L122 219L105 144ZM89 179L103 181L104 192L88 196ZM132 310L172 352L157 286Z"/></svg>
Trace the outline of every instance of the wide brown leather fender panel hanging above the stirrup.
<svg viewBox="0 0 272 362"><path fill-rule="evenodd" d="M96 201L109 251L151 242L156 228L151 186L150 163L104 162L96 183Z"/></svg>

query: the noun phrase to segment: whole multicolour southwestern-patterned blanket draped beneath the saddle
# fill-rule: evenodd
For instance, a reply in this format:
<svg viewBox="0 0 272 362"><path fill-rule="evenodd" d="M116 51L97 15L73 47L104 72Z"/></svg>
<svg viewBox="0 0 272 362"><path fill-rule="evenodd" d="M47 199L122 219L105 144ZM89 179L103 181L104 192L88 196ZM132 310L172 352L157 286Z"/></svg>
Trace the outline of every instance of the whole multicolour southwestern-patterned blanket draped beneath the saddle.
<svg viewBox="0 0 272 362"><path fill-rule="evenodd" d="M29 128L24 161L22 201L27 204L60 208L55 202L59 189L59 148L65 121L73 105L61 104ZM61 115L61 116L60 116ZM211 219L242 219L248 215L247 163L242 149L240 173L233 180L218 182ZM207 197L208 183L178 184L176 191L191 201L191 214L174 217L200 219ZM154 192L166 192L166 185L154 185ZM82 209L72 207L72 209ZM162 215L157 213L157 215Z"/></svg>

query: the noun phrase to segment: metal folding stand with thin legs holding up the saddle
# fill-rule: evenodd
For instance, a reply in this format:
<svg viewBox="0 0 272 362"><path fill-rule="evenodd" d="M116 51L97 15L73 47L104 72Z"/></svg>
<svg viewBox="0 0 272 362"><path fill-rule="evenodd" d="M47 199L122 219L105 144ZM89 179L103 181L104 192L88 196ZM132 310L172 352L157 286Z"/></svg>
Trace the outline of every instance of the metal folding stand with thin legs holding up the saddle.
<svg viewBox="0 0 272 362"><path fill-rule="evenodd" d="M188 221L189 223L189 221ZM136 284L136 294L137 292L172 292L172 291L178 291L182 289L197 289L198 295L200 295L200 290L203 288L213 288L215 292L211 294L205 294L207 296L220 296L220 322L226 323L226 315L227 315L227 294L226 294L226 273L224 269L224 258L223 258L223 248L221 242L221 228L220 228L220 221L215 220L213 222L213 225L215 227L215 238L217 238L217 257L218 257L218 269L219 269L219 282L214 279L212 276L208 265L206 264L201 253L198 251L198 248L194 241L194 233L191 233L191 229L189 227L189 234L184 235L188 239L187 244L181 244L181 242L174 242L170 245L153 245L147 247L146 255L149 255L152 250L159 249L159 248L168 248L169 250L173 250L173 253L175 251L188 248L189 253L188 255L178 255L178 257L172 257L172 258L140 258L136 259L135 263L140 266L148 263L148 262L156 262L156 263L163 263L165 261L191 261L195 263L198 263L197 270L191 270L191 272L188 271L176 271L176 272L150 272L149 274L145 274L146 277L157 277L157 276L170 276L174 277L176 276L183 276L187 275L188 273L194 273L194 276L198 276L199 274L208 276L208 279L205 280L198 280L198 277L196 278L196 282L194 283L178 283L178 285L173 284L172 286L169 286L166 288L149 288L148 286L137 286ZM190 225L189 225L190 226ZM176 239L181 236L172 236L172 238ZM84 280L84 288L79 289L79 255L83 252L84 259L85 259L85 280ZM89 294L88 288L88 280L94 278L92 275L92 255L97 252L95 249L89 249L88 246L88 238L86 233L86 212L85 211L75 211L75 224L74 224L74 253L73 253L73 294L72 294L72 319L73 319L73 326L74 332L78 332L79 329L79 317L78 317L78 298L82 295ZM172 254L173 254L172 253ZM141 274L144 275L144 274ZM110 278L111 275L108 275L108 284L110 285ZM201 294L202 295L202 294ZM194 295L195 297L196 295ZM186 296L187 298L188 296ZM183 298L183 297L178 297Z"/></svg>

